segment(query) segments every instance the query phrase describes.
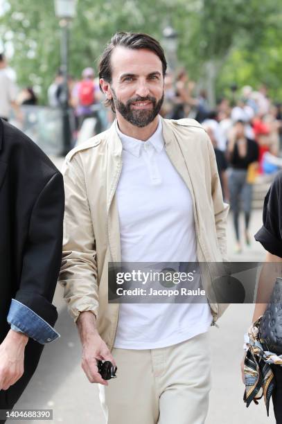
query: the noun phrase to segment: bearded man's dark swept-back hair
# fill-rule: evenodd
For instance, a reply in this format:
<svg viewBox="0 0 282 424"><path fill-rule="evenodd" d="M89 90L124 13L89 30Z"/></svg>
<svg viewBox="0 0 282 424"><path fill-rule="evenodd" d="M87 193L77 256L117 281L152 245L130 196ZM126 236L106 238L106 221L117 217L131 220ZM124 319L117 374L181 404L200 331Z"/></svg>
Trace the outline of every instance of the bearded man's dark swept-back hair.
<svg viewBox="0 0 282 424"><path fill-rule="evenodd" d="M107 44L107 46L105 47L105 50L103 51L100 57L100 61L98 64L99 79L103 78L105 81L109 82L109 84L112 82L111 56L112 51L117 46L123 46L136 50L146 48L147 50L152 51L161 60L161 64L163 67L163 76L165 76L167 67L166 57L164 55L164 50L161 47L161 44L159 44L159 42L157 41L157 39L151 37L148 34L143 33L116 33L112 37L109 44ZM103 91L101 85L100 90ZM113 99L105 100L105 106L111 106L113 112L115 112Z"/></svg>

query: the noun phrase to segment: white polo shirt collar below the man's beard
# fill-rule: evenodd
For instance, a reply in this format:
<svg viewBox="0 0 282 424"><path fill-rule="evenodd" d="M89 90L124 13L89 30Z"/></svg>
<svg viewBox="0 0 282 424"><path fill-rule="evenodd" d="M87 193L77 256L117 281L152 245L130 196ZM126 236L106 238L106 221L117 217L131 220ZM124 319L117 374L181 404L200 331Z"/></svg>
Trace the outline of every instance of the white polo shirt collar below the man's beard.
<svg viewBox="0 0 282 424"><path fill-rule="evenodd" d="M116 125L116 132L118 133L118 136L121 139L121 142L123 143L123 150L130 152L136 157L140 156L141 148L145 143L146 144L150 143L155 148L155 150L157 150L157 152L161 152L161 150L164 148L164 138L162 135L162 123L160 118L159 118L159 125L157 126L157 130L146 141L134 139L133 137L123 134L123 132L121 132L121 130L118 128L117 120L115 125Z"/></svg>

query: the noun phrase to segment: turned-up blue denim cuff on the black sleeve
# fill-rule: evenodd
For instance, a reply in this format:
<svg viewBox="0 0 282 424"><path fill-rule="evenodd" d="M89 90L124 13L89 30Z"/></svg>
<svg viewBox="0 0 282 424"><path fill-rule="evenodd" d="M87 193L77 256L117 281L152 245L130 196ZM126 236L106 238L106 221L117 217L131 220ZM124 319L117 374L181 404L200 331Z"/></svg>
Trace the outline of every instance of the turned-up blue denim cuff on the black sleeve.
<svg viewBox="0 0 282 424"><path fill-rule="evenodd" d="M16 299L12 299L7 321L11 328L15 326L12 330L26 334L40 344L51 343L60 337L48 322Z"/></svg>

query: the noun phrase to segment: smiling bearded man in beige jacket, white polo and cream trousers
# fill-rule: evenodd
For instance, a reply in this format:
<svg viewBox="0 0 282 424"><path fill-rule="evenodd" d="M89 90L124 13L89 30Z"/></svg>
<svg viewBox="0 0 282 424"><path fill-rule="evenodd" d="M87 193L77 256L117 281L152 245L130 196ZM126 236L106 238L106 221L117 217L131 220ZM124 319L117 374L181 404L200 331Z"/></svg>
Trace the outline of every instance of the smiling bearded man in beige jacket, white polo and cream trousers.
<svg viewBox="0 0 282 424"><path fill-rule="evenodd" d="M159 115L165 73L156 39L116 33L99 64L116 120L64 164L60 281L108 424L202 424L208 409L208 330L222 308L108 301L109 262L222 261L226 253L213 146L196 121ZM97 360L118 366L117 378L104 380Z"/></svg>

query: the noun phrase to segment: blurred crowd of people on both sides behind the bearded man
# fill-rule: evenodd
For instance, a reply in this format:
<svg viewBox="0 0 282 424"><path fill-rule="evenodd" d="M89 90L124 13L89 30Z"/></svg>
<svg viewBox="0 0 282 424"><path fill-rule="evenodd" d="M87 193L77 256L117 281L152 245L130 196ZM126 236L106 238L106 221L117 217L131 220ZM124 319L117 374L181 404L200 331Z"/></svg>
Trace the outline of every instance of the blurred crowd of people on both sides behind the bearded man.
<svg viewBox="0 0 282 424"><path fill-rule="evenodd" d="M12 76L8 75L4 55L0 55L0 116L7 118L8 106L21 119L21 105L37 105L33 87L17 91ZM6 97L4 96L6 93ZM51 108L66 105L74 116L73 138L76 143L103 130L114 120L114 113L103 108L104 123L97 126L98 112L104 96L94 69L82 70L79 78L64 80L61 71L55 75L48 93ZM10 105L8 105L10 102ZM100 113L100 112L99 112ZM282 168L282 105L274 103L267 87L236 87L229 96L211 105L204 89L189 80L185 69L168 73L165 77L165 97L161 109L164 118L193 118L201 123L213 143L224 200L231 205L236 235L235 250L242 250L239 214L245 217L245 243L249 245L249 220L252 211L252 191L256 179L274 175Z"/></svg>

